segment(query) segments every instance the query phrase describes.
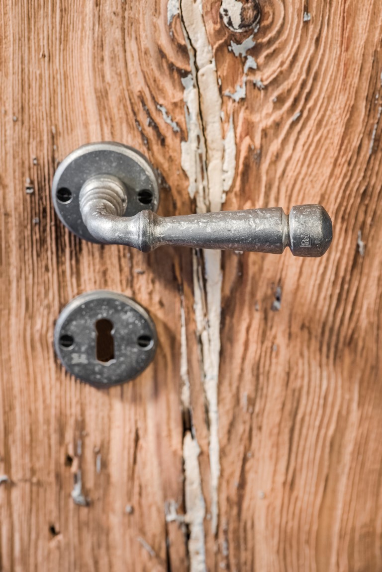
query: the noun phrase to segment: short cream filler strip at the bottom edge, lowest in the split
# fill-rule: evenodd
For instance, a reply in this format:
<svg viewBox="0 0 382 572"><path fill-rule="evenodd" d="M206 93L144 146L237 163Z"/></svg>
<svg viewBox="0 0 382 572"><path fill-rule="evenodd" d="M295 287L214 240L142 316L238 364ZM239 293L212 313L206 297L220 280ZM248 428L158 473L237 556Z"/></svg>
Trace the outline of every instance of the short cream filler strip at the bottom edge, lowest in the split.
<svg viewBox="0 0 382 572"><path fill-rule="evenodd" d="M184 492L186 515L184 521L190 528L188 553L190 554L190 572L205 572L206 549L204 546L204 517L206 505L202 492L202 480L199 469L199 445L187 431L183 439Z"/></svg>

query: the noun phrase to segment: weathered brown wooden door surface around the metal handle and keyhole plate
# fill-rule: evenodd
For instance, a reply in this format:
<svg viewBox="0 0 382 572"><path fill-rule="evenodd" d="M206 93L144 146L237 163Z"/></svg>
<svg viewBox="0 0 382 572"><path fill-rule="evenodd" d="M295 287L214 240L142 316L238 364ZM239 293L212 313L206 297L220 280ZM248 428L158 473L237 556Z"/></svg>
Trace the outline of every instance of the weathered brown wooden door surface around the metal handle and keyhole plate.
<svg viewBox="0 0 382 572"><path fill-rule="evenodd" d="M235 33L212 0L0 2L2 572L382 569L380 2L260 5ZM162 215L322 202L333 245L80 243L50 184L99 140L148 156ZM94 288L159 335L110 391L52 347Z"/></svg>

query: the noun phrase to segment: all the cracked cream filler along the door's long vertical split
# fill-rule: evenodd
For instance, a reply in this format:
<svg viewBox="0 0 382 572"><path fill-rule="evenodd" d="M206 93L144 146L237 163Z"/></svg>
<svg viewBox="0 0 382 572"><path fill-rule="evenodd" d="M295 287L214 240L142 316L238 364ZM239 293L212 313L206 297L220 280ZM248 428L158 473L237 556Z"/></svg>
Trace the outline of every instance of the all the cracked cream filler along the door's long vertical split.
<svg viewBox="0 0 382 572"><path fill-rule="evenodd" d="M229 146L231 151L235 150L235 142L232 141L232 138L234 140L234 133L230 133L229 129L228 140L223 141L222 100L219 93L215 61L204 26L202 2L201 0L182 0L180 10L191 65L191 76L183 80L188 140L182 142L182 168L190 180L190 196L196 196L196 210L198 212L217 211L221 208L225 189L229 182L231 184L231 175L235 172L235 157L227 156ZM220 264L220 251L204 251L204 286L203 276L201 276L203 269L200 268L194 252L195 316L202 345L203 387L210 423L209 455L211 528L213 534L216 534L218 525L218 482L220 475L218 439L220 296L222 287ZM195 439L192 440L191 435L188 438L186 435L184 439L185 464L187 464L186 456L188 456L188 468L185 469L188 472L186 491L187 478L190 482L190 478L195 480L199 474L198 454L198 443ZM194 459L192 463L190 459ZM200 482L200 475L199 480L196 480ZM193 499L194 497L189 496L188 517L193 514L191 513L191 510L194 510L193 505L190 504L191 501L194 502ZM191 570L195 571L205 569L205 563L203 564L204 567L199 566L199 559L202 554L200 550L202 549L204 562L204 513L204 499L200 487L199 509L196 511L197 517L191 518L193 524L190 526L191 537L189 542ZM197 529L198 522L200 531ZM195 530L195 534L198 534L196 544L193 540L192 529Z"/></svg>

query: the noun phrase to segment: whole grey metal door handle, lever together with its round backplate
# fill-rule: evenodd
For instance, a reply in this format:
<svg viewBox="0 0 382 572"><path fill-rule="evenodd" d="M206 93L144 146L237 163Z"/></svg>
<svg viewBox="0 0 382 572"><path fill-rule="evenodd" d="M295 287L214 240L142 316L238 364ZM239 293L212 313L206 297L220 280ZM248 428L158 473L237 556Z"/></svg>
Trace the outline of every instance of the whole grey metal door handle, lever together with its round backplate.
<svg viewBox="0 0 382 572"><path fill-rule="evenodd" d="M143 252L161 245L322 256L332 221L321 205L160 217L155 172L136 150L115 143L85 145L60 164L53 200L61 220L78 236L124 244ZM144 209L145 208L145 209Z"/></svg>

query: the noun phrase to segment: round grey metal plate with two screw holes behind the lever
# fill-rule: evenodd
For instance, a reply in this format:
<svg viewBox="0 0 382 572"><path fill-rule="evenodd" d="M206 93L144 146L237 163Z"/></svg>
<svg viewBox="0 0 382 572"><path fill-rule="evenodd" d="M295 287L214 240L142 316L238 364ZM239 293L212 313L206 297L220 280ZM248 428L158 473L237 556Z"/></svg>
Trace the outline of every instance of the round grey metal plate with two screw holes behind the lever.
<svg viewBox="0 0 382 572"><path fill-rule="evenodd" d="M155 171L136 149L114 142L90 143L76 149L58 165L54 174L53 204L70 231L93 243L97 241L82 221L79 196L84 182L100 174L113 175L124 183L128 193L124 216L145 209L156 212L159 204Z"/></svg>

